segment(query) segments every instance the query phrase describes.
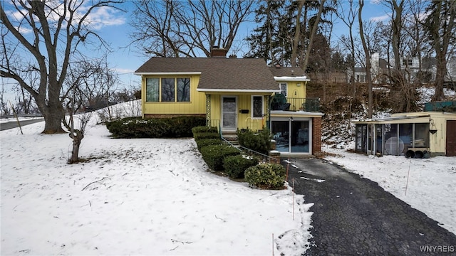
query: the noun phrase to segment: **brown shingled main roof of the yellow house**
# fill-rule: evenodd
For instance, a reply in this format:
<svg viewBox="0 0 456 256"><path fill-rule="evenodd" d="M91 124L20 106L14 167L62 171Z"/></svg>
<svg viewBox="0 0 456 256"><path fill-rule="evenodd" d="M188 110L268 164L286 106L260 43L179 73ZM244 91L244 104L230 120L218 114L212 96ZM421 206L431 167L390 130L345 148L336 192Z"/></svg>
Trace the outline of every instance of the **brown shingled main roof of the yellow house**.
<svg viewBox="0 0 456 256"><path fill-rule="evenodd" d="M201 73L201 91L279 90L271 71L259 58L150 58L135 73Z"/></svg>

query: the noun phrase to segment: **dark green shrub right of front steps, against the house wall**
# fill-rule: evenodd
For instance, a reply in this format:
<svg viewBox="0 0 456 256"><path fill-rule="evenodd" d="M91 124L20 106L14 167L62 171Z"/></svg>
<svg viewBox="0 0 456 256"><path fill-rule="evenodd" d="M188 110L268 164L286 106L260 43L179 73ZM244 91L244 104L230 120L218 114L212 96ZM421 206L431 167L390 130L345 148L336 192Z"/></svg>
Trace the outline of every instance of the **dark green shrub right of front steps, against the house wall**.
<svg viewBox="0 0 456 256"><path fill-rule="evenodd" d="M241 146L252 149L261 154L268 154L271 149L271 137L269 130L263 129L259 132L253 132L251 129L237 131L237 139Z"/></svg>

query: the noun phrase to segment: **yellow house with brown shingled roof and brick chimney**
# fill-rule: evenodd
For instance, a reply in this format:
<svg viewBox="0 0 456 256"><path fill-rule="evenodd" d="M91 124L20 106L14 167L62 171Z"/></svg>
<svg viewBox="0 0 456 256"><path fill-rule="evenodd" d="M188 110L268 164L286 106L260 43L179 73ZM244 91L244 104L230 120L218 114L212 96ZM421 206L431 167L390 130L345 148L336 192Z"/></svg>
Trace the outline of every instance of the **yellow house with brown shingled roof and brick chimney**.
<svg viewBox="0 0 456 256"><path fill-rule="evenodd" d="M267 127L281 154L321 151L323 114L318 100L306 99L303 71L226 54L213 48L210 58L147 60L135 72L142 78L142 117L202 116L222 134ZM289 108L271 110L273 102Z"/></svg>

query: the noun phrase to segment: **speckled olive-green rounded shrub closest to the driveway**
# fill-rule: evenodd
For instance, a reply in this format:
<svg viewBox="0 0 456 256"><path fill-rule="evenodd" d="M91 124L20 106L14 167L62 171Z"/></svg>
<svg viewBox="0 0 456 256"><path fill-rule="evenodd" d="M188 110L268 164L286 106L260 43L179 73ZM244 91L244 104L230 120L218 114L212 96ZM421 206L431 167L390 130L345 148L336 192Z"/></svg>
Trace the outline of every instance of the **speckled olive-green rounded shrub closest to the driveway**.
<svg viewBox="0 0 456 256"><path fill-rule="evenodd" d="M251 186L274 189L284 187L285 172L285 167L280 164L259 164L249 167L244 175Z"/></svg>

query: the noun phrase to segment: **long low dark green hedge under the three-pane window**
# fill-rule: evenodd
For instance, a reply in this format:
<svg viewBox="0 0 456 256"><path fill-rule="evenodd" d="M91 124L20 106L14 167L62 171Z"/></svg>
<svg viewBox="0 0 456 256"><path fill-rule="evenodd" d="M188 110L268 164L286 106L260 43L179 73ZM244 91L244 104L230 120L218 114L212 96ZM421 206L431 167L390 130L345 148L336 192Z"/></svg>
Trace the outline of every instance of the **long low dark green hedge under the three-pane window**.
<svg viewBox="0 0 456 256"><path fill-rule="evenodd" d="M179 138L192 137L192 128L205 123L204 117L128 117L106 122L106 127L115 138Z"/></svg>

